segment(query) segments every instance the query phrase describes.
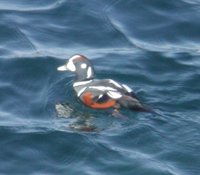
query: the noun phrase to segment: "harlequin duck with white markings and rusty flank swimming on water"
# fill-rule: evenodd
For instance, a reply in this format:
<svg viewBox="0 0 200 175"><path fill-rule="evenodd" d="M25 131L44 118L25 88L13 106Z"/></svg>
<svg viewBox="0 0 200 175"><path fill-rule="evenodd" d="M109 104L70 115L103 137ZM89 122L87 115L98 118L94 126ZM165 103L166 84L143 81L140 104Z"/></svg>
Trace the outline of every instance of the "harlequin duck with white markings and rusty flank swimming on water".
<svg viewBox="0 0 200 175"><path fill-rule="evenodd" d="M95 79L91 62L83 55L72 56L58 71L71 71L76 74L73 88L77 97L86 106L93 109L121 107L135 111L151 112L141 104L132 89L112 79Z"/></svg>

